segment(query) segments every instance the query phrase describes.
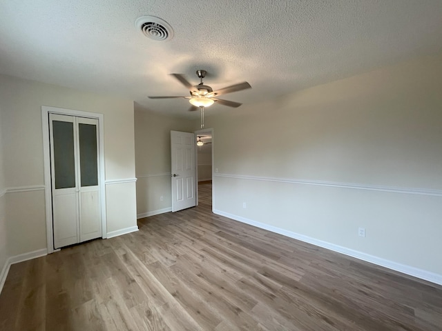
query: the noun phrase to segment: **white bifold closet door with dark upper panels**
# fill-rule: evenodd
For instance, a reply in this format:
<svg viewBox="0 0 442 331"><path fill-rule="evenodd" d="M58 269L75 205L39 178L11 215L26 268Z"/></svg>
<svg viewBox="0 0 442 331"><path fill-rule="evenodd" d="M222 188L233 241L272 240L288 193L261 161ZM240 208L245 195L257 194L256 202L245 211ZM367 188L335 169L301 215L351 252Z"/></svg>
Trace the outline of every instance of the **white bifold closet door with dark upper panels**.
<svg viewBox="0 0 442 331"><path fill-rule="evenodd" d="M50 114L54 248L102 237L98 121Z"/></svg>

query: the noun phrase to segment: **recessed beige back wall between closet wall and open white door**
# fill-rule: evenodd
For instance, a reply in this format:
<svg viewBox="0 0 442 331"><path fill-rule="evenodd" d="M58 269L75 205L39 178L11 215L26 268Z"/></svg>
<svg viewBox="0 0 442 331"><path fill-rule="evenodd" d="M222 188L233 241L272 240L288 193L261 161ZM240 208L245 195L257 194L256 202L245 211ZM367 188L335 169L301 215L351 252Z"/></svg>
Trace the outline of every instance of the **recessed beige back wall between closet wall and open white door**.
<svg viewBox="0 0 442 331"><path fill-rule="evenodd" d="M183 106L184 111L185 105ZM193 132L198 120L164 116L135 105L137 215L171 211L171 130ZM163 201L161 201L163 197Z"/></svg>

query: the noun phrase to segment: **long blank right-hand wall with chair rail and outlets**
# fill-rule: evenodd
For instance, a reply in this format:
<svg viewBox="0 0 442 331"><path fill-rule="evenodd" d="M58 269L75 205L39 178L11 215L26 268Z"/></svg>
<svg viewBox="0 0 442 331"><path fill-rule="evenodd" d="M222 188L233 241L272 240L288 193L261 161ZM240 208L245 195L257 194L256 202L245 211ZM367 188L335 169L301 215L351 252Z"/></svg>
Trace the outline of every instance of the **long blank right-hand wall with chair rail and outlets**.
<svg viewBox="0 0 442 331"><path fill-rule="evenodd" d="M428 57L206 117L213 209L442 282L441 86Z"/></svg>

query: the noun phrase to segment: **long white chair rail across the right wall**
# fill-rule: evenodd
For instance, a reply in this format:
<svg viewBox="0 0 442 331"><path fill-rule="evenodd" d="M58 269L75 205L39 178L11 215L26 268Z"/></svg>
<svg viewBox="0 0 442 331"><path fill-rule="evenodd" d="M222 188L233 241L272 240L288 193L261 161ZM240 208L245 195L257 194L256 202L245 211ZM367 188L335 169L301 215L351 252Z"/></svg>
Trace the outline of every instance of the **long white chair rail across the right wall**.
<svg viewBox="0 0 442 331"><path fill-rule="evenodd" d="M442 197L442 190L432 190L426 188L398 188L393 186L381 186L381 185L364 185L358 183L338 183L333 181L307 181L302 179L289 179L289 178L276 178L276 177L256 177L256 176L242 176L239 174L213 174L213 177L226 177L236 179L248 179L252 181L273 181L278 183L292 183L300 185L318 185L329 186L334 188L351 188L355 190L372 190L381 192L394 192L405 194L421 194L432 195L435 197Z"/></svg>

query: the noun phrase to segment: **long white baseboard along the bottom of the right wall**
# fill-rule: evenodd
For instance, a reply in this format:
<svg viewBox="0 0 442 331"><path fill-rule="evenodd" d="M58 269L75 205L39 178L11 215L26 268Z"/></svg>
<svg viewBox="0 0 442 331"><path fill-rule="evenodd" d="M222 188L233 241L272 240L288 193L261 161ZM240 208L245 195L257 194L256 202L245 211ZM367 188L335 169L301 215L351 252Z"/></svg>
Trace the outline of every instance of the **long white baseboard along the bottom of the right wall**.
<svg viewBox="0 0 442 331"><path fill-rule="evenodd" d="M397 263L394 261L382 259L380 257L374 257L373 255L366 254L364 252L359 252L357 250L345 248L343 246L335 245L333 243L328 243L327 241L322 241L322 240L314 239L311 237L307 237L303 234L298 234L296 232L291 232L291 231L284 230L281 228L276 228L275 226L272 226L272 225L260 223L257 221L253 221L251 219L246 219L244 217L240 217L240 216L237 216L234 214L229 214L228 212L222 212L221 210L213 210L213 213L218 214L220 216L228 217L229 219L234 219L236 221L240 221L242 223L247 223L249 225L256 226L257 228L268 230L270 232L282 234L285 237L290 237L293 239L304 241L305 243L311 243L312 245L316 245L316 246L319 246L322 248L326 248L327 250L332 250L334 252L345 254L345 255L348 255L349 257L355 257L356 259L360 259L363 261L367 261L369 263L380 265L381 267L385 267L385 268L388 268L388 269L391 269L394 271L402 272L403 274L407 274L412 277L416 277L419 279L423 279L425 281L430 281L432 283L442 285L442 275L441 274L436 274L434 272L430 272L427 270L414 268L410 265L404 265L402 263Z"/></svg>

